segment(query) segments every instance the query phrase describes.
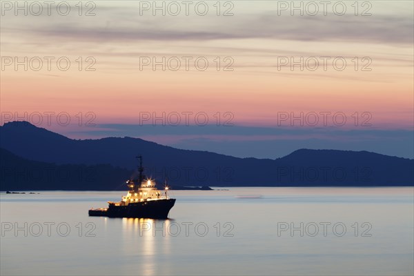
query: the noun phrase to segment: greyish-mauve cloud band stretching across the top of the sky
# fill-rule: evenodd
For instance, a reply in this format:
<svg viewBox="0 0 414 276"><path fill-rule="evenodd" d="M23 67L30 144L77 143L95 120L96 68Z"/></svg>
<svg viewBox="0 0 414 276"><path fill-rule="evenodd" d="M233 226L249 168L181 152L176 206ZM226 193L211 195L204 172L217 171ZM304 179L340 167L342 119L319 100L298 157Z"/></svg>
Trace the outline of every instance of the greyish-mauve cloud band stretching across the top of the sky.
<svg viewBox="0 0 414 276"><path fill-rule="evenodd" d="M368 41L412 43L410 14L373 14L368 17L277 16L275 11L235 14L233 17L140 17L131 7L97 9L97 17L21 21L3 19L3 31L23 30L29 37L50 37L70 41L211 41L232 39L278 39L293 41ZM17 28L17 29L16 29Z"/></svg>

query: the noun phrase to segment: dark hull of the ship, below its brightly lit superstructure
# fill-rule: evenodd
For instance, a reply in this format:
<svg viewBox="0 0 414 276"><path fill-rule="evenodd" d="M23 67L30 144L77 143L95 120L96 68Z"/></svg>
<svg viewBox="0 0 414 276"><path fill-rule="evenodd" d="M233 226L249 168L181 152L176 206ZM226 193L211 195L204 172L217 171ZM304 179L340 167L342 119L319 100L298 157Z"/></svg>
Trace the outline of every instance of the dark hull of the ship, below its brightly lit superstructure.
<svg viewBox="0 0 414 276"><path fill-rule="evenodd" d="M91 217L139 217L148 219L166 219L175 199L159 199L130 203L127 206L110 204L107 210L89 210Z"/></svg>

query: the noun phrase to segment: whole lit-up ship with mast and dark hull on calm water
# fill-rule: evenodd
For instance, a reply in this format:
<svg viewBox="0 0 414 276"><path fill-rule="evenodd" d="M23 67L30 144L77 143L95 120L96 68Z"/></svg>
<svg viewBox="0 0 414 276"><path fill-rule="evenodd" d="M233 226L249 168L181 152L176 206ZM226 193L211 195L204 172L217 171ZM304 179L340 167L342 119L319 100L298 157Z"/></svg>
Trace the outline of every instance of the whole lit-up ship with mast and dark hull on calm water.
<svg viewBox="0 0 414 276"><path fill-rule="evenodd" d="M148 219L167 219L168 213L175 204L175 199L168 197L168 186L158 190L155 180L143 174L142 157L139 159L139 178L128 179L129 188L126 196L119 202L108 201L108 208L90 209L91 217L138 217Z"/></svg>

